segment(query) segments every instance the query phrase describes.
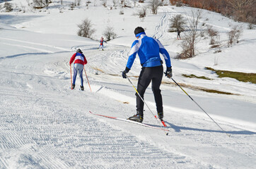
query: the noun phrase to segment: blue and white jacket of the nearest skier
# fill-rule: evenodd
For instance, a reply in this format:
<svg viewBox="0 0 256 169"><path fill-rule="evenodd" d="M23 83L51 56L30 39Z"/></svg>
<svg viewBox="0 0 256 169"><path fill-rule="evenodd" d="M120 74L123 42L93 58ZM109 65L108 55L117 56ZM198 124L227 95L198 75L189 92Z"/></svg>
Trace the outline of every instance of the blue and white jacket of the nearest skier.
<svg viewBox="0 0 256 169"><path fill-rule="evenodd" d="M158 39L147 37L146 34L143 32L139 36L139 39L136 39L132 44L132 48L127 61L127 68L132 68L132 64L134 63L136 54L139 55L139 60L141 61L142 67L159 66L163 63L159 53L163 55L166 67L170 68L170 56L168 54L168 51L166 51L166 49L163 47L163 44L161 44Z"/></svg>

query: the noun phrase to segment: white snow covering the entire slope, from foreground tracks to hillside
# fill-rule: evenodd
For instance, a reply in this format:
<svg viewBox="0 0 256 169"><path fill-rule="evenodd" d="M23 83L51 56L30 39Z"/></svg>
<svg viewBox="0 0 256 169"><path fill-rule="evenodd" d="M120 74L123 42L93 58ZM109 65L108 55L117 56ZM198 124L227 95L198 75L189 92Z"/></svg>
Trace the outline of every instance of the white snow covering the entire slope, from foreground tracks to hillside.
<svg viewBox="0 0 256 169"><path fill-rule="evenodd" d="M103 1L91 1L88 8L86 1L81 1L74 10L69 10L72 1L52 1L47 9L37 10L28 6L29 2L9 1L13 11L8 13L0 8L1 169L256 168L256 84L219 78L205 69L256 73L256 30L248 30L247 23L203 11L200 22L220 32L222 51L214 54L209 39L202 39L197 56L178 60L175 56L182 50L182 40L168 32L169 20L177 14L189 16L191 8L161 6L157 15L149 10L141 20L134 13L147 3L137 1L135 5L135 1L127 1L132 8L118 5L112 9L112 1L107 1L107 8ZM77 25L85 18L96 30L93 39L76 35ZM117 38L100 51L98 41L107 25L114 27ZM228 48L227 32L233 25L242 25L243 35L238 44ZM134 88L120 72L137 26L163 43L172 57L173 79L184 84L182 88L226 133L166 77L161 90L168 135L89 113L124 119L136 113ZM70 89L69 59L78 48L88 60L85 70L91 86L90 90L83 74L83 92L78 79L76 88ZM135 86L140 69L136 58L127 74ZM199 87L232 94L203 92ZM150 86L144 98L156 114ZM146 106L143 123L161 126Z"/></svg>

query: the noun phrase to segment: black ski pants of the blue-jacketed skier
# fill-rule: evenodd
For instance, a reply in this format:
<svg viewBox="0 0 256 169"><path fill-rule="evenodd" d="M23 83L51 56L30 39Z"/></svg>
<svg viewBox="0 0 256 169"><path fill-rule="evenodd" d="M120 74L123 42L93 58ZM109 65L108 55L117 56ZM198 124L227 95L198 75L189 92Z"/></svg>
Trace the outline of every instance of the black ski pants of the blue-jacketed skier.
<svg viewBox="0 0 256 169"><path fill-rule="evenodd" d="M152 82L152 91L153 96L155 97L156 102L156 111L158 113L163 112L163 100L161 89L159 89L163 78L163 65L159 65L156 67L144 67L141 68L141 73L139 75L139 81L137 85L137 91L141 95L142 99L144 99L144 94L146 92L146 88L149 86L150 82ZM139 114L143 117L144 111L144 101L141 100L139 95L136 93L136 110L139 111Z"/></svg>

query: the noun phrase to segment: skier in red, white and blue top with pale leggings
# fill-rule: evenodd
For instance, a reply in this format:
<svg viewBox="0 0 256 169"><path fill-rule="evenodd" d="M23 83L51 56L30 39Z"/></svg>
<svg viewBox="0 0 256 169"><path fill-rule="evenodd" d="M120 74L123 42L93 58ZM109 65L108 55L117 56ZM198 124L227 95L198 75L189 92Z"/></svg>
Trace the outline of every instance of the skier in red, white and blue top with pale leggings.
<svg viewBox="0 0 256 169"><path fill-rule="evenodd" d="M86 57L83 55L83 52L81 49L76 50L76 54L73 54L71 56L69 64L71 65L74 62L74 76L73 76L73 82L72 82L72 89L75 88L76 84L76 75L80 77L81 80L81 90L83 90L83 66L86 65Z"/></svg>

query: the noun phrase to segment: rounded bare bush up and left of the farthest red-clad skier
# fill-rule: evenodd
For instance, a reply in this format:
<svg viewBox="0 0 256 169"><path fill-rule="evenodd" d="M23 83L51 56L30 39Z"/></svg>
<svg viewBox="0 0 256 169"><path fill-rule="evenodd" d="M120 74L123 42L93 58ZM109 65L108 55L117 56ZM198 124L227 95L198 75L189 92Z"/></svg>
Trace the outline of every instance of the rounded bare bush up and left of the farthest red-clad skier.
<svg viewBox="0 0 256 169"><path fill-rule="evenodd" d="M91 38L91 35L93 35L93 33L96 31L95 29L92 28L93 24L91 23L91 20L89 20L88 18L83 20L83 23L78 25L78 27L79 27L79 30L77 32L77 35L81 37Z"/></svg>

